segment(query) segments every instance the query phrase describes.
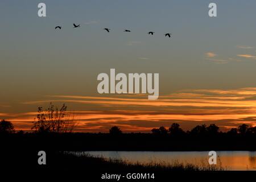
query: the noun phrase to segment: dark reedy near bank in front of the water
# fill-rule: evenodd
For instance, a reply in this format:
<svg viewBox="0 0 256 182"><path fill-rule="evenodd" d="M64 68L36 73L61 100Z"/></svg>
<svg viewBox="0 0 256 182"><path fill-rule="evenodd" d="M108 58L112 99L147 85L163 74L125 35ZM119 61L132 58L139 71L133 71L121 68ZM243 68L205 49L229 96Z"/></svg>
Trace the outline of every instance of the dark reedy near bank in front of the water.
<svg viewBox="0 0 256 182"><path fill-rule="evenodd" d="M179 163L130 163L121 159L105 159L102 157L74 155L68 152L46 151L47 165L38 164L38 151L23 150L9 151L1 154L1 169L32 169L32 170L86 170L92 172L168 172L168 171L225 171L226 168L218 165L209 165L207 161L200 164Z"/></svg>

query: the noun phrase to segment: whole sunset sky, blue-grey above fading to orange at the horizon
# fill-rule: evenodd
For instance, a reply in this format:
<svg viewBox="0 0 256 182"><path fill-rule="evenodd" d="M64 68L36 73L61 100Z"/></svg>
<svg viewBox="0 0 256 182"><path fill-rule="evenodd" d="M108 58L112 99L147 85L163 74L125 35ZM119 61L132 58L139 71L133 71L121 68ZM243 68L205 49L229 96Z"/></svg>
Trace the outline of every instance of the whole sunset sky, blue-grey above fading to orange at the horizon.
<svg viewBox="0 0 256 182"><path fill-rule="evenodd" d="M208 16L210 2L216 18ZM115 125L150 132L174 122L184 130L203 123L223 131L255 126L255 7L253 0L2 0L0 118L30 131L37 108L53 102L67 104L82 132ZM164 37L169 32L171 39ZM159 73L158 100L99 94L97 75L110 68Z"/></svg>

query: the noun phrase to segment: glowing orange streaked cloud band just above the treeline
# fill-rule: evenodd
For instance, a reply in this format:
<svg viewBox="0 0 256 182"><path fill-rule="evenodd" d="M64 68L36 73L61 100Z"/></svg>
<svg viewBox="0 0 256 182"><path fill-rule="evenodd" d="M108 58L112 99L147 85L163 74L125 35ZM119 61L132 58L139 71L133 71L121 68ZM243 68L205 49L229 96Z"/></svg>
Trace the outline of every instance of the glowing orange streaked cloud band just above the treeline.
<svg viewBox="0 0 256 182"><path fill-rule="evenodd" d="M256 88L180 90L147 100L144 94L101 96L47 96L48 100L27 101L26 105L48 106L63 103L73 110L78 123L76 131L108 132L117 125L125 132L150 132L152 127L170 126L173 122L189 130L199 124L216 123L229 130L242 123L256 125ZM81 110L81 108L83 108ZM2 113L16 129L30 130L36 112Z"/></svg>

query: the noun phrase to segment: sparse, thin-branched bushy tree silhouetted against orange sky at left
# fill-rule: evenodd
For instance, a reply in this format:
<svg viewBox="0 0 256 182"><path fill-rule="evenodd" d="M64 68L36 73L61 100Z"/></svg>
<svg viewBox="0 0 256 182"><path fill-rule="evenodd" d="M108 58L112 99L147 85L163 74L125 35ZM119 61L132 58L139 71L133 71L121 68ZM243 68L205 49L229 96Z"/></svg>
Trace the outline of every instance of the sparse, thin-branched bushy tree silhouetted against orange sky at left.
<svg viewBox="0 0 256 182"><path fill-rule="evenodd" d="M32 129L39 133L68 133L72 132L75 127L73 115L67 112L65 104L60 109L52 103L46 110L43 110L43 107L38 107L36 118L38 121L33 123Z"/></svg>

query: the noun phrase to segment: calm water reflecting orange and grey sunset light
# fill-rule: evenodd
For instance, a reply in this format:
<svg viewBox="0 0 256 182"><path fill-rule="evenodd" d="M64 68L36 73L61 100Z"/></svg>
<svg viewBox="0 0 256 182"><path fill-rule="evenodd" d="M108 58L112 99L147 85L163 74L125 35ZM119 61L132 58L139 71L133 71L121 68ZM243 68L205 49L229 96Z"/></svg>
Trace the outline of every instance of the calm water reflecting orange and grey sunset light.
<svg viewBox="0 0 256 182"><path fill-rule="evenodd" d="M106 159L122 159L131 163L179 163L202 164L208 163L208 152L152 152L152 151L89 151L81 152ZM217 151L221 166L228 170L255 170L256 151ZM218 163L219 161L217 161Z"/></svg>

